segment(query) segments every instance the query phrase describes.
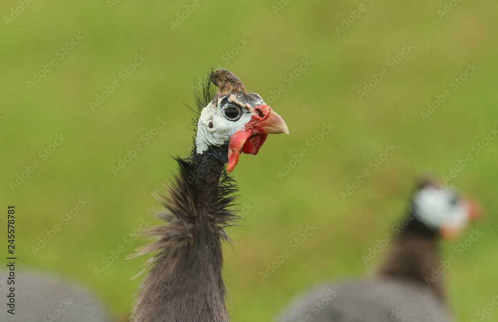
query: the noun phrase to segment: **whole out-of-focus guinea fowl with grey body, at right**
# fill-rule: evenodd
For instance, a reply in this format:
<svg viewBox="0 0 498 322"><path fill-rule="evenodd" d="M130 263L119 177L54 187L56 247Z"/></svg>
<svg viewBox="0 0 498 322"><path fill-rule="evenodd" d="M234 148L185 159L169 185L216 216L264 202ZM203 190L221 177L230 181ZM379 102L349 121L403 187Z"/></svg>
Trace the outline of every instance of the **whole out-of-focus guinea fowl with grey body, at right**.
<svg viewBox="0 0 498 322"><path fill-rule="evenodd" d="M479 214L476 204L424 180L408 214L393 225L395 236L377 276L321 284L298 296L277 322L446 322L438 236L454 238Z"/></svg>

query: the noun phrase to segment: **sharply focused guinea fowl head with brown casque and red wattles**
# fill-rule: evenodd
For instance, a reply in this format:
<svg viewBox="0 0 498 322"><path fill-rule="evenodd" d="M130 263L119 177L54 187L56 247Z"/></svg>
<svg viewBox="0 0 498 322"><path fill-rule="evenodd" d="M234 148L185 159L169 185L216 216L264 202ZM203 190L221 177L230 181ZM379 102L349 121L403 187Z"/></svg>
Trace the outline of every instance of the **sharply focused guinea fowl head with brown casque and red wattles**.
<svg viewBox="0 0 498 322"><path fill-rule="evenodd" d="M257 154L268 134L289 133L285 121L256 93L248 93L232 72L211 74L218 92L204 107L197 124L196 153L213 153L231 172L242 152Z"/></svg>

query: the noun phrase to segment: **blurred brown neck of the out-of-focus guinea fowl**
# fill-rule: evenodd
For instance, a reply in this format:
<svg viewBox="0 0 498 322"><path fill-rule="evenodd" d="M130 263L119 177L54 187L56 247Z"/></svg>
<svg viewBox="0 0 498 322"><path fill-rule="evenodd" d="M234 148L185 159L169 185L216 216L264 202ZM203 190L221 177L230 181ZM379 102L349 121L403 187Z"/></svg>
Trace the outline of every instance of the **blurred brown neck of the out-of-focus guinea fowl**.
<svg viewBox="0 0 498 322"><path fill-rule="evenodd" d="M444 302L441 277L433 279L433 269L440 265L438 233L415 215L412 205L405 217L408 222L396 235L378 276L410 280L432 290Z"/></svg>

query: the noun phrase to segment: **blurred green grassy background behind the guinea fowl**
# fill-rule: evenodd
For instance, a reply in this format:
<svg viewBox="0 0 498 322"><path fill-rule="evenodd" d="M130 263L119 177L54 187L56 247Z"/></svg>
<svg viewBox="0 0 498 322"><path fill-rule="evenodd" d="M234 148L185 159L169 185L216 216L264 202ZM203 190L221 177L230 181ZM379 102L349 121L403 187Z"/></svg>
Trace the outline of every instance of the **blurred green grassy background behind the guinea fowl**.
<svg viewBox="0 0 498 322"><path fill-rule="evenodd" d="M498 122L496 1L452 1L444 16L443 0L26 1L16 9L21 2L0 4L0 203L5 213L16 207L18 268L80 281L114 318L126 318L140 281L130 277L146 260L124 259L146 243L128 234L142 220L158 223L145 210L158 205L151 192L176 171L172 156L192 148L194 113L184 104L194 107L192 86L223 66L290 130L270 136L257 156L241 156L233 172L241 207L250 209L225 248L233 321L270 321L318 281L372 272L375 263L364 265L362 256L404 214L416 175L448 176L469 153L472 161L457 167L450 184L487 215L474 226L483 236L444 274L449 305L457 321L478 319L498 292L498 140L479 154L472 149ZM83 38L68 45L73 33ZM399 54L405 43L414 47ZM135 69L137 54L146 59ZM51 60L50 71L39 72ZM450 82L467 64L478 69L455 90ZM133 70L126 79L124 68ZM387 76L360 100L357 91L382 69ZM33 73L40 77L34 86L27 83L38 81ZM92 110L116 80L120 86ZM451 96L422 117L445 90ZM168 123L155 131L157 118ZM335 127L317 137L324 122ZM145 144L147 132L157 135ZM67 139L55 151L39 154L61 133ZM142 150L115 175L111 167L136 144ZM374 170L386 144L397 149ZM290 162L302 149L306 156ZM35 160L40 166L12 188ZM295 167L278 176L289 162ZM371 176L343 201L340 192L366 170ZM64 221L78 198L88 205ZM62 230L33 254L57 224ZM294 251L289 242L307 224L317 230ZM456 254L456 245L443 242L442 258ZM95 267L118 249L124 252L97 276ZM291 256L263 282L260 272L285 250ZM495 310L486 319L497 317Z"/></svg>

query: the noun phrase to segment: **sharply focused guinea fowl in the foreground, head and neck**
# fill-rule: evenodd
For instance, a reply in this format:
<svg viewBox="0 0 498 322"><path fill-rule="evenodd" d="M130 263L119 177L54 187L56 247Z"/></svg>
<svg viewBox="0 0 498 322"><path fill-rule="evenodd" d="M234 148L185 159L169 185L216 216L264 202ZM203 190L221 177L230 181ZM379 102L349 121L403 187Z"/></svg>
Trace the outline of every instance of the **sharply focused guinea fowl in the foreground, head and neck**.
<svg viewBox="0 0 498 322"><path fill-rule="evenodd" d="M212 84L218 86L215 94ZM156 252L139 288L132 321L228 322L223 283L224 228L239 218L230 209L236 191L228 176L240 152L256 154L270 133L288 133L284 120L261 97L248 93L232 72L219 68L196 93L197 135L190 158L177 159L179 174L169 197L156 197L167 225L136 255ZM227 170L225 163L228 162Z"/></svg>

